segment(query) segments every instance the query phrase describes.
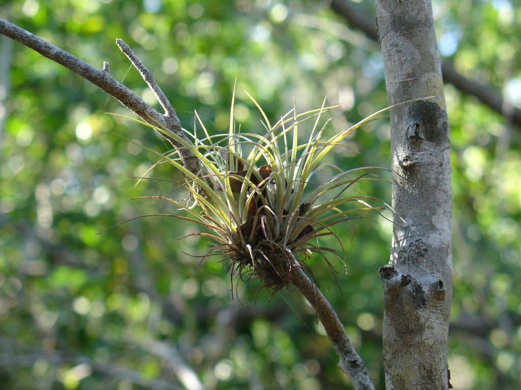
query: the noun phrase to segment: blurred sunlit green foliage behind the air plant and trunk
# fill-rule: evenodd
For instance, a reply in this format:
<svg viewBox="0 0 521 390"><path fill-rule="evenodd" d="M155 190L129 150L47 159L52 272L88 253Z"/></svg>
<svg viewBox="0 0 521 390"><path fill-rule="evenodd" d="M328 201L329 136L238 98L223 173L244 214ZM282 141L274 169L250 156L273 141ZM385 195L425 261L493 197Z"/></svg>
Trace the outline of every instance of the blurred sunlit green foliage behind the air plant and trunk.
<svg viewBox="0 0 521 390"><path fill-rule="evenodd" d="M346 0L349 1L349 0ZM373 4L358 4L374 15ZM521 9L508 0L435 1L441 54L467 77L521 103ZM155 75L184 127L197 110L214 133L235 120L262 132L270 118L328 103L330 134L387 106L377 44L318 1L12 1L2 17L110 71L147 102L154 98L114 44L125 40ZM371 16L372 18L373 16ZM175 349L209 389L351 388L311 308L299 294L239 285L215 258L197 267L206 242L179 240L196 228L160 201L182 178L167 164L135 185L168 145L76 74L14 43L10 90L0 105L0 383L6 389L184 388ZM7 48L6 48L7 47ZM516 54L517 53L517 54ZM0 86L2 88L3 86ZM518 388L521 366L521 129L452 85L454 295L449 368L459 389ZM306 134L303 134L305 138ZM389 124L371 122L331 154L343 167L389 167ZM384 179L389 179L385 174ZM390 202L390 186L363 185ZM177 191L176 196L182 196ZM337 229L349 275L345 296L312 259L322 290L343 320L378 388L383 388L382 293L391 226ZM333 240L324 244L336 247ZM256 301L256 305L253 306ZM125 370L122 370L125 369ZM171 383L171 385L168 385ZM164 387L160 387L164 386ZM179 386L179 387L176 387ZM191 387L188 387L191 388ZM196 387L193 387L196 388Z"/></svg>

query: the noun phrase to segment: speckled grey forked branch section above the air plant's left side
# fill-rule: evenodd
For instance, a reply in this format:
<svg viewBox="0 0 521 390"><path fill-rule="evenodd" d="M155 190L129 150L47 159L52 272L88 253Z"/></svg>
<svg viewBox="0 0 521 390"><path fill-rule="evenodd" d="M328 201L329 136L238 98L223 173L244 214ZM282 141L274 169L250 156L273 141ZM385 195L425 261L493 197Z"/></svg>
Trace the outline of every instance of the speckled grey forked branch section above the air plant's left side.
<svg viewBox="0 0 521 390"><path fill-rule="evenodd" d="M169 131L171 131L173 134L176 134L186 141L189 141L187 136L184 134L181 127L181 122L179 122L177 114L168 102L168 99L154 81L153 77L148 77L150 72L148 72L143 64L137 59L137 57L135 57L135 55L132 53L132 50L130 50L130 47L128 47L125 42L118 40L118 46L132 61L135 67L138 68L139 66L138 70L147 82L148 86L150 86L152 89L152 92L154 92L154 95L157 97L159 103L165 109L165 114L160 114L157 112L154 108L145 103L131 89L115 80L114 77L112 77L108 72L108 66L105 66L105 64L103 69L94 68L78 57L67 53L67 51L54 46L42 38L30 33L29 31L23 30L17 25L9 23L4 19L0 19L0 34L5 35L23 45L26 45L27 47L40 53L42 56L47 57L64 66L65 68L79 74L84 79L100 87L107 94L115 97L123 106L132 110L145 122L152 125L159 123L160 125L169 129ZM199 160L197 160L193 153L187 148L183 147L173 137L169 137L165 134L161 135L168 139L168 141L176 148L184 167L194 175L197 175L200 171L200 165Z"/></svg>

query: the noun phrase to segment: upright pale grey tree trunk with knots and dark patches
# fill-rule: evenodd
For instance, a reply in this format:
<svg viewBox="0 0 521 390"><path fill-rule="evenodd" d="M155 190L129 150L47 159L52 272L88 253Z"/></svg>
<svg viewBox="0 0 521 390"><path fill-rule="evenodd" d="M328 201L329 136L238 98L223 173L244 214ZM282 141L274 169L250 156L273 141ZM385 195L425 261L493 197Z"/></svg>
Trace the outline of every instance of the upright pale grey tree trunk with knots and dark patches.
<svg viewBox="0 0 521 390"><path fill-rule="evenodd" d="M391 110L395 215L390 263L380 268L386 388L446 389L451 164L431 2L377 0L376 19L389 103L426 97Z"/></svg>

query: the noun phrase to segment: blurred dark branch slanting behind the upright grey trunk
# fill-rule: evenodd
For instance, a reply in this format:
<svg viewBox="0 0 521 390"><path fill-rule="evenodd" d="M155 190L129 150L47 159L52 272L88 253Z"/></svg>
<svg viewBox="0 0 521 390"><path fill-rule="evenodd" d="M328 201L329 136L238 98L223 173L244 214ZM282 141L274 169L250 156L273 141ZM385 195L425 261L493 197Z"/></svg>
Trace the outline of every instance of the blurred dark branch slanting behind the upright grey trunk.
<svg viewBox="0 0 521 390"><path fill-rule="evenodd" d="M371 39L378 41L375 21L354 6L350 0L331 0L331 9L348 21L350 25L361 30ZM509 121L512 120L513 124L521 125L521 109L514 107L511 112L505 113L505 101L501 94L494 89L477 81L467 79L458 73L449 61L442 62L441 71L445 82L454 85L464 94L476 97L480 102L503 116L508 114L507 119Z"/></svg>

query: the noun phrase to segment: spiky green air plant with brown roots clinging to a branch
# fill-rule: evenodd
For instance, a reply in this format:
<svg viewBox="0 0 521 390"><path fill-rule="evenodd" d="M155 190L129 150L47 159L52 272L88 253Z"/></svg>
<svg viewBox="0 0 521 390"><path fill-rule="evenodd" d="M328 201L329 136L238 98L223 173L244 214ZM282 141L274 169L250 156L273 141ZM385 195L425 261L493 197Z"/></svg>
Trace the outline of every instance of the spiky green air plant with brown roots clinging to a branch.
<svg viewBox="0 0 521 390"><path fill-rule="evenodd" d="M332 226L366 218L357 215L359 212L381 210L368 203L375 199L373 197L345 194L358 181L376 178L362 173L368 167L344 171L321 162L348 134L390 107L325 138L324 131L330 120L319 126L320 119L324 113L340 106L325 107L324 100L319 109L297 114L294 105L271 124L257 101L246 93L264 119L265 134L259 135L240 132L235 126L234 95L228 134L210 135L195 112L194 133L185 131L193 139L192 143L157 122L151 125L125 117L177 140L199 159L201 171L195 175L180 159L174 158L173 153L161 155L162 161L168 161L183 173L182 187L189 191L189 197L186 203L153 198L163 198L185 212L185 215L168 216L204 228L205 231L192 234L214 242L203 259L220 255L222 261L227 262L232 285L234 276L239 276L238 280L243 281L258 279L260 288L271 289L274 294L283 288L290 289L292 271L296 267L302 267L313 277L306 264L313 253L324 258L332 271L328 255L340 258L345 266L343 257L334 249L320 246L318 238L336 237ZM308 126L311 127L309 137L299 144L299 132L307 123L313 123ZM197 124L204 133L202 138L197 136ZM314 184L314 176L326 167L336 173ZM344 210L342 206L349 203L355 206ZM338 237L337 240L340 242Z"/></svg>

